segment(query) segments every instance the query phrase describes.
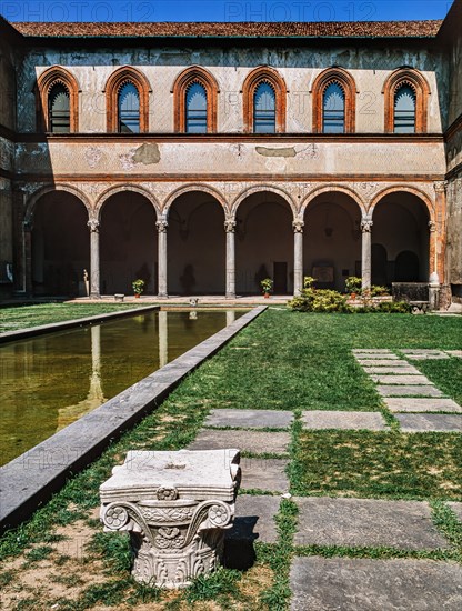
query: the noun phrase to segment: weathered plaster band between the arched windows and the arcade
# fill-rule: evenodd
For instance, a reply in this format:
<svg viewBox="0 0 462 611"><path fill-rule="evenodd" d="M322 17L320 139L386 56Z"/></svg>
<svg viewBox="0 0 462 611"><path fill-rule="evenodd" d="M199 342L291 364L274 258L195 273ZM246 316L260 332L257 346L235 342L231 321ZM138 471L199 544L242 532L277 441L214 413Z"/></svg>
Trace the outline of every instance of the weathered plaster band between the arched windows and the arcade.
<svg viewBox="0 0 462 611"><path fill-rule="evenodd" d="M413 176L445 173L442 142L162 142L140 137L83 143L50 139L17 147L18 174L139 177L227 174Z"/></svg>

